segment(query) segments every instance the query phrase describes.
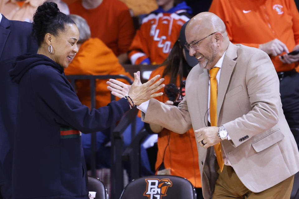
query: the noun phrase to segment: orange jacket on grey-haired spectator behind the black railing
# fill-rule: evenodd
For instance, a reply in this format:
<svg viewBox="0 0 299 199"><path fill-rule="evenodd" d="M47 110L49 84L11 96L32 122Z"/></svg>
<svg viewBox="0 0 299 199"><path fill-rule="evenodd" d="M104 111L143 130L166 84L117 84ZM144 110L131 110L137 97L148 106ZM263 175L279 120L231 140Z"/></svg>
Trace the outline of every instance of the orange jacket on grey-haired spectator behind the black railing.
<svg viewBox="0 0 299 199"><path fill-rule="evenodd" d="M126 75L128 72L118 62L118 59L100 39L90 38L85 41L69 67L64 69L65 75ZM128 82L118 79L126 84ZM96 108L106 106L110 102L110 91L107 89L108 79L96 80ZM82 104L90 107L90 86L88 80L76 82L77 95Z"/></svg>

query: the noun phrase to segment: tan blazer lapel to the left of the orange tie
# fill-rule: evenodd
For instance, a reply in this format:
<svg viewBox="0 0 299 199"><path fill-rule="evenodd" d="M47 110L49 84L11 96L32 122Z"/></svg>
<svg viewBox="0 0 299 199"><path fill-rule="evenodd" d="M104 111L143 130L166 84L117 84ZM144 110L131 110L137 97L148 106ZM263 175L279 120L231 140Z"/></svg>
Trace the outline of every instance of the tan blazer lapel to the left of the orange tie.
<svg viewBox="0 0 299 199"><path fill-rule="evenodd" d="M204 72L199 75L197 81L197 97L198 97L198 106L200 110L200 118L202 118L201 122L204 122L206 125L208 123L207 120L207 110L208 110L208 90L209 90L209 72L204 69Z"/></svg>

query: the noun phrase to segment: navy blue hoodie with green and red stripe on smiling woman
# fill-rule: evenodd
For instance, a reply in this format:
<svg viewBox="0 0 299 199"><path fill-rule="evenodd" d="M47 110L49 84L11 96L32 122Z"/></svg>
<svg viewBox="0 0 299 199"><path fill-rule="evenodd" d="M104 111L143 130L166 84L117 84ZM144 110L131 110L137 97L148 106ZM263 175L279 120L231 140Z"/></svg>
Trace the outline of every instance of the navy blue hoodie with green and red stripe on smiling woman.
<svg viewBox="0 0 299 199"><path fill-rule="evenodd" d="M89 110L79 101L64 69L27 53L10 71L18 83L12 166L13 198L88 198L81 132L97 132L130 109L126 99Z"/></svg>

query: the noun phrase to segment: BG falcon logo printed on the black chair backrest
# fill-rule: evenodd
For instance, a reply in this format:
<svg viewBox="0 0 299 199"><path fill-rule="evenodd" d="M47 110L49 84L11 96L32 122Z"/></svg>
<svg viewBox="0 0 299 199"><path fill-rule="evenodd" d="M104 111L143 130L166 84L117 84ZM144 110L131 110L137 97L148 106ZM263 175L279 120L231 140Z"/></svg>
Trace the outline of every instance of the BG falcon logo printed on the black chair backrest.
<svg viewBox="0 0 299 199"><path fill-rule="evenodd" d="M144 196L149 199L161 199L162 196L166 196L168 187L172 186L172 182L168 178L164 179L145 179L147 183L147 189Z"/></svg>

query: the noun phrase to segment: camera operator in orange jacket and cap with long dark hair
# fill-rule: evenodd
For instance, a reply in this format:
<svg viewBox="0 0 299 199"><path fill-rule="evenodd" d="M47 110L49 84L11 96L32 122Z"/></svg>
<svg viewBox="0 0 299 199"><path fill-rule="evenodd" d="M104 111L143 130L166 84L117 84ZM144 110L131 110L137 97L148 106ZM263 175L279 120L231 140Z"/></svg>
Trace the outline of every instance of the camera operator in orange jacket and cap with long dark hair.
<svg viewBox="0 0 299 199"><path fill-rule="evenodd" d="M179 39L173 45L163 66L157 68L150 75L161 75L165 78L164 95L155 99L165 104L178 105L185 95L185 80L193 66L198 64L195 57L189 56L184 44L185 28L182 26ZM196 139L191 128L184 134L172 132L156 124L145 123L146 129L158 133L158 154L156 171L158 174L171 174L187 178L196 188L197 199L202 198L202 183L198 165L198 153Z"/></svg>

